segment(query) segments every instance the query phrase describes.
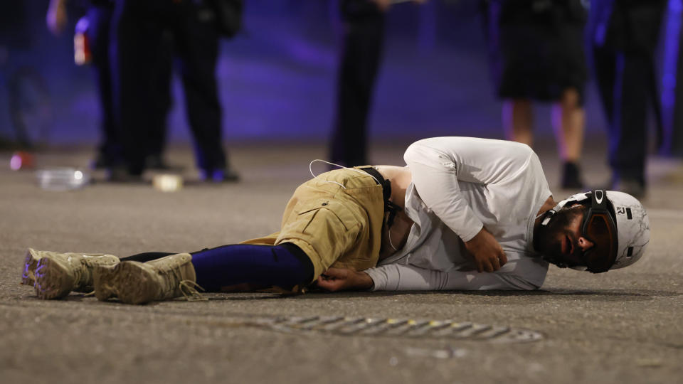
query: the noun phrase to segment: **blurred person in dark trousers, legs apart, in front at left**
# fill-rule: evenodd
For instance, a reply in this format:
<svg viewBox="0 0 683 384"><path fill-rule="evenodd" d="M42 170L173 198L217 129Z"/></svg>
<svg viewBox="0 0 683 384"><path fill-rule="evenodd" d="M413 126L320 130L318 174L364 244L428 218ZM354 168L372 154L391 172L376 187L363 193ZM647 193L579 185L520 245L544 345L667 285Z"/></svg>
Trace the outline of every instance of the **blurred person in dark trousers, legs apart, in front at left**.
<svg viewBox="0 0 683 384"><path fill-rule="evenodd" d="M237 181L223 151L221 104L216 85L219 21L228 0L114 0L112 75L114 105L120 124L122 166L112 179L137 180L144 171L144 155L152 146L149 110L154 104L158 65L179 58L186 112L194 136L196 163L205 181ZM240 3L232 0L231 3ZM241 11L241 8L239 8ZM227 13L230 13L228 9ZM230 15L238 18L240 15ZM220 18L220 19L219 19ZM173 55L158 55L164 33L174 43Z"/></svg>

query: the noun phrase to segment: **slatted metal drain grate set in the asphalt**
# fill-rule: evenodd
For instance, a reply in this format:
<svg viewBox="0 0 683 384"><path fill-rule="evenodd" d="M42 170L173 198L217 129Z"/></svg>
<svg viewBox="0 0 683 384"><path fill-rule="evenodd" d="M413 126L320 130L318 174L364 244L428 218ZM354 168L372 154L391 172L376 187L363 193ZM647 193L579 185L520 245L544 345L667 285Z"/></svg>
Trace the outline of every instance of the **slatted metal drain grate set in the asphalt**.
<svg viewBox="0 0 683 384"><path fill-rule="evenodd" d="M528 329L452 320L309 316L258 319L255 324L282 332L320 332L344 336L457 338L507 343L526 343L544 338L540 332Z"/></svg>

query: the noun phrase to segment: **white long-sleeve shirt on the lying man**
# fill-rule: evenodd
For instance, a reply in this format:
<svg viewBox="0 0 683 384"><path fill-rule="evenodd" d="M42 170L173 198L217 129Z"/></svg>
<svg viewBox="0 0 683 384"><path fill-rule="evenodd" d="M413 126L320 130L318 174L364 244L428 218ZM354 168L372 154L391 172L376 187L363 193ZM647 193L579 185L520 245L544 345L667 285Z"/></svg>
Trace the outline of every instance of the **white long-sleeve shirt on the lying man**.
<svg viewBox="0 0 683 384"><path fill-rule="evenodd" d="M551 191L524 144L435 137L411 144L403 159L413 181L406 245L366 270L374 290L537 289L548 263L533 249L534 220ZM465 241L484 225L507 255L496 272L477 272Z"/></svg>

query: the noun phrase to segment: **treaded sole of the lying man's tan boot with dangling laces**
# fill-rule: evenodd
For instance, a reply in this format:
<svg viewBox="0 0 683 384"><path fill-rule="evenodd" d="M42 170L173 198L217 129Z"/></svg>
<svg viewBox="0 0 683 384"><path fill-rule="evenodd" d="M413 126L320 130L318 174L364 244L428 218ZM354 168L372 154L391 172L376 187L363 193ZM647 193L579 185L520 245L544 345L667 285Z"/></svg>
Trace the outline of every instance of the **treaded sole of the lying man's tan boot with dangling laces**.
<svg viewBox="0 0 683 384"><path fill-rule="evenodd" d="M142 262L120 262L114 268L98 269L95 297L103 301L114 295L125 304L146 304L159 297L159 283Z"/></svg>

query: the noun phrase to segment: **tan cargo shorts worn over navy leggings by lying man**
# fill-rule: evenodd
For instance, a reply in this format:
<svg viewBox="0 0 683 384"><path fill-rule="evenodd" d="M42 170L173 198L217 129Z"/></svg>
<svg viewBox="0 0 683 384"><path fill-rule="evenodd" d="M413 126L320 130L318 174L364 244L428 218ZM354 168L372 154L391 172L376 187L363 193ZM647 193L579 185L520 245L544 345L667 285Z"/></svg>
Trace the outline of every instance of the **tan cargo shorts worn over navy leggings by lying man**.
<svg viewBox="0 0 683 384"><path fill-rule="evenodd" d="M315 281L329 267L374 267L383 215L382 187L375 179L360 169L337 169L297 188L282 215L280 232L243 244L292 242L310 257Z"/></svg>

